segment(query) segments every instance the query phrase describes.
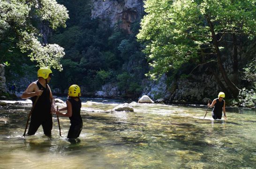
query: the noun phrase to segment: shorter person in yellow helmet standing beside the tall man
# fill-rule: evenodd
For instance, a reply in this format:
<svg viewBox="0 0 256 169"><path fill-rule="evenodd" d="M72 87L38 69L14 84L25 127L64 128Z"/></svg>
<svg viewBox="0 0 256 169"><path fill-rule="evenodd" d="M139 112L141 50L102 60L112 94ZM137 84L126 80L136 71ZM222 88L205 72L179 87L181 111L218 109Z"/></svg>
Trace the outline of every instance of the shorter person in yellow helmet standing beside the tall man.
<svg viewBox="0 0 256 169"><path fill-rule="evenodd" d="M80 87L76 84L71 85L68 88L68 100L66 101L67 107L63 107L55 112L57 115L69 117L71 126L68 131L68 139L78 138L83 128L83 120L80 115L82 106L80 96ZM66 110L67 113L60 113L60 111L64 110Z"/></svg>

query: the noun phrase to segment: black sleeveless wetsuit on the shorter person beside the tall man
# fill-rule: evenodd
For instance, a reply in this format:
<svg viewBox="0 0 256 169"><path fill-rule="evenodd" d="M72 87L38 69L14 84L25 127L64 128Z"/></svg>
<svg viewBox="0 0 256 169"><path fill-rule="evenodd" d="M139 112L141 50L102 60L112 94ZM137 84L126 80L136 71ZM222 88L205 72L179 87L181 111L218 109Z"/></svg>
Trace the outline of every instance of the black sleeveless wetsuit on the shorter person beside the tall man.
<svg viewBox="0 0 256 169"><path fill-rule="evenodd" d="M83 128L83 120L80 115L82 104L80 99L75 101L75 99L69 98L68 101L70 101L72 105L72 116L69 117L71 126L68 131L68 139L74 139L79 137Z"/></svg>

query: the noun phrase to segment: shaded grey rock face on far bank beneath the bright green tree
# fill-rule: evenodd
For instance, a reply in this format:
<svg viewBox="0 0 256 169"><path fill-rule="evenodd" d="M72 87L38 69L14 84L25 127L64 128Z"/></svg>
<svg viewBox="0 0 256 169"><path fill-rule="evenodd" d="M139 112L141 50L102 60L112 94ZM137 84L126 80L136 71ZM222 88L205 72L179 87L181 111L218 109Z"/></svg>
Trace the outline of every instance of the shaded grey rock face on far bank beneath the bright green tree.
<svg viewBox="0 0 256 169"><path fill-rule="evenodd" d="M168 86L166 78L166 75L163 75L158 81L147 80L145 82L147 87L144 88L143 95L152 99L162 98L165 103L177 103L177 101L183 100L184 103L190 101L202 104L205 96L214 96L215 91L221 91L214 77L206 74L198 77L192 75L191 79L173 80ZM213 88L214 91L211 90Z"/></svg>

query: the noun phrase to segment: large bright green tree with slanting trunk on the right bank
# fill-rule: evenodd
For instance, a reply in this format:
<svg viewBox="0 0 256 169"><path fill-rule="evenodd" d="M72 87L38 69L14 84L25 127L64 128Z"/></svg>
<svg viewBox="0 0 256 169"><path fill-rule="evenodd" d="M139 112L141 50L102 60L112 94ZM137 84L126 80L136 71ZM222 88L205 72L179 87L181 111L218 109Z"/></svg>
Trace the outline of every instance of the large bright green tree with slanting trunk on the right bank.
<svg viewBox="0 0 256 169"><path fill-rule="evenodd" d="M221 42L233 36L236 58L236 37L255 38L256 0L147 0L145 11L137 38L146 42L151 77L215 56L226 85L239 94L223 66Z"/></svg>

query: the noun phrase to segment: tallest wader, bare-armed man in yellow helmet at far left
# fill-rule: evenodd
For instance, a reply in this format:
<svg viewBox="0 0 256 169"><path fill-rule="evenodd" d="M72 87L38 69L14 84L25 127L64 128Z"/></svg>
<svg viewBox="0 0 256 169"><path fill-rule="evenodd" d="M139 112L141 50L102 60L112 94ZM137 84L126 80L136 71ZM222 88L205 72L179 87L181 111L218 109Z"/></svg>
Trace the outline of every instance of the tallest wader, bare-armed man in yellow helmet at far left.
<svg viewBox="0 0 256 169"><path fill-rule="evenodd" d="M41 68L38 70L38 80L32 82L23 92L22 99L32 99L32 104L35 104L31 113L30 127L28 135L34 135L40 125L42 125L44 134L51 136L53 128L52 113L55 112L55 101L48 83L53 76L52 70ZM35 103L38 97L38 101Z"/></svg>

